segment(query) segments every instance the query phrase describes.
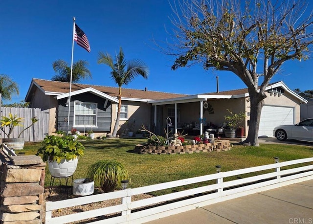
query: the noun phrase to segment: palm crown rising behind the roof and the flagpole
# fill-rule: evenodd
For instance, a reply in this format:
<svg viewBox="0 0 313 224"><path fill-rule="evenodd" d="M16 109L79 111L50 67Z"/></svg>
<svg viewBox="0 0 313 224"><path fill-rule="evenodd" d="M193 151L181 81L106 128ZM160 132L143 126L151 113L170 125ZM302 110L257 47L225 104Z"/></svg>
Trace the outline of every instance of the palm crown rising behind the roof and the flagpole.
<svg viewBox="0 0 313 224"><path fill-rule="evenodd" d="M84 60L78 60L73 63L73 73L72 73L72 82L79 82L81 79L92 78L91 72L87 68L88 62ZM53 62L52 67L57 73L54 75L51 80L61 81L61 82L70 82L70 66L67 62L59 59Z"/></svg>

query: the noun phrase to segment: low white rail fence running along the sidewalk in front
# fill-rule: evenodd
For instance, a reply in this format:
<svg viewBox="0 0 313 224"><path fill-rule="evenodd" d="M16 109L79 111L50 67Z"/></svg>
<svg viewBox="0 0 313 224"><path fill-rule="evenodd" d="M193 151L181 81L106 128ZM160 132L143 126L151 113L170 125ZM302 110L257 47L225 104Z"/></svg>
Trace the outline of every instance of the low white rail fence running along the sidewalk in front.
<svg viewBox="0 0 313 224"><path fill-rule="evenodd" d="M45 222L46 224L69 223L115 213L118 214L118 216L104 220L97 220L92 223L145 223L212 203L223 202L292 183L313 179L312 162L313 157L297 159L133 189L129 188L110 193L73 198L64 201L46 202ZM299 167L287 167L295 164L299 164L296 165ZM263 174L256 175L255 172L263 172ZM247 176L249 177L239 179L240 175L245 174L248 174ZM235 177L235 179L233 178L234 180L229 181L225 180L225 178L229 179L230 177ZM213 183L209 185L139 201L132 201L132 197L135 195L210 180L211 182L213 180ZM52 218L53 210L118 198L121 198L121 204Z"/></svg>

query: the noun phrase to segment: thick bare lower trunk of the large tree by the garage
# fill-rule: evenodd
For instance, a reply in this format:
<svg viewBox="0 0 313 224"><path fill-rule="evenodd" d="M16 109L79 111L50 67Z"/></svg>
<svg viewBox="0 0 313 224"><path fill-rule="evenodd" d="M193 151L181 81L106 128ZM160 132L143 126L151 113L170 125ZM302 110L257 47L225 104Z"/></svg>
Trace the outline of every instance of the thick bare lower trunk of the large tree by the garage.
<svg viewBox="0 0 313 224"><path fill-rule="evenodd" d="M252 92L252 91L251 91ZM262 93L256 93L253 90L253 93L250 95L250 120L249 120L249 131L248 136L244 143L249 143L252 146L259 146L258 135L259 135L259 126L261 112L264 105L264 96Z"/></svg>

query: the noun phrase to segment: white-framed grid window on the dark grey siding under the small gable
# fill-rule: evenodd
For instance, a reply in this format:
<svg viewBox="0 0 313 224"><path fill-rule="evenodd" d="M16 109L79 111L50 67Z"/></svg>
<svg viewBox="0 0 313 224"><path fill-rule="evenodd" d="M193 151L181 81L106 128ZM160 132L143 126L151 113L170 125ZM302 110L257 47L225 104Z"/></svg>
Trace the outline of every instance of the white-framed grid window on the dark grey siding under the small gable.
<svg viewBox="0 0 313 224"><path fill-rule="evenodd" d="M97 104L75 102L74 127L97 126Z"/></svg>

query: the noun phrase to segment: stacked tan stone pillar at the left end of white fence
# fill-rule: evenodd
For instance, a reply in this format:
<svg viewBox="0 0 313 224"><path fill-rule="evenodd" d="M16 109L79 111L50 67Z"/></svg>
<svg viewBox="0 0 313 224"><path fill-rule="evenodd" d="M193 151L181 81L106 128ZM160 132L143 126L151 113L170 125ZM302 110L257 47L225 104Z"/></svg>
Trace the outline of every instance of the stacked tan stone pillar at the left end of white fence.
<svg viewBox="0 0 313 224"><path fill-rule="evenodd" d="M8 156L0 151L0 223L41 224L45 162L37 156Z"/></svg>

